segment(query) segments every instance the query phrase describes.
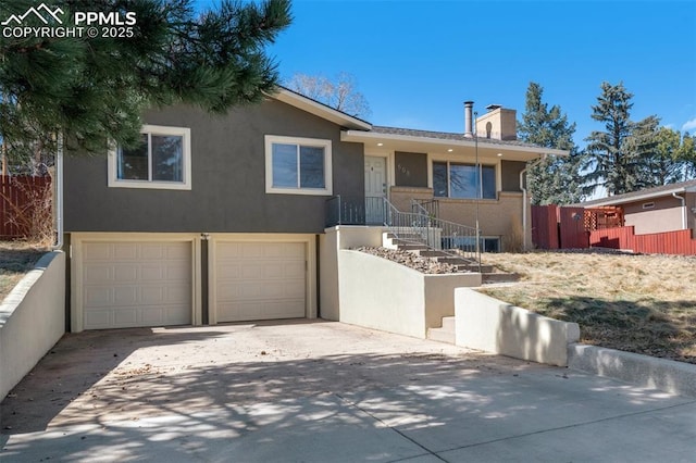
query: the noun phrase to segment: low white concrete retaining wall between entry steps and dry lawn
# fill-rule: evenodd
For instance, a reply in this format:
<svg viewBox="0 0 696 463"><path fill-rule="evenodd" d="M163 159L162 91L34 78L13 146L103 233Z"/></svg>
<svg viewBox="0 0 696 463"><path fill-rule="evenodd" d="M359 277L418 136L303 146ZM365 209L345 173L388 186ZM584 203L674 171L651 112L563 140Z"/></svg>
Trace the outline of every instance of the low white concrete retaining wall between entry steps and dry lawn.
<svg viewBox="0 0 696 463"><path fill-rule="evenodd" d="M576 323L548 318L468 288L455 291L456 343L470 349L568 365L568 345L580 339Z"/></svg>

